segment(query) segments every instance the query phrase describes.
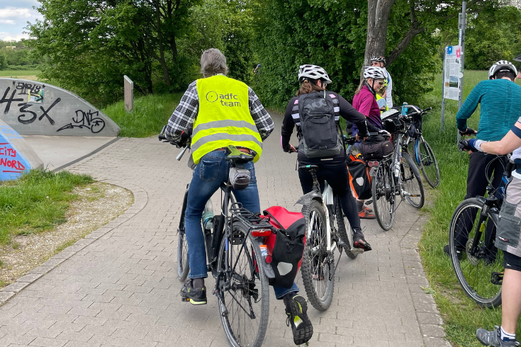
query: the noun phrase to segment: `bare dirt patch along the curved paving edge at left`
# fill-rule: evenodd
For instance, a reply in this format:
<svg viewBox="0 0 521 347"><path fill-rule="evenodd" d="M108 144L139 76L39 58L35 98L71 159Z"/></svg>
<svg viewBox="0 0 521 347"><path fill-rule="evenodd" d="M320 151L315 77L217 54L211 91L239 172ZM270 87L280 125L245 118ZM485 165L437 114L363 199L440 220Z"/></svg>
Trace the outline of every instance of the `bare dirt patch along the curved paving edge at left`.
<svg viewBox="0 0 521 347"><path fill-rule="evenodd" d="M67 222L49 232L11 237L11 244L0 246L0 288L122 215L134 202L130 190L107 183L75 188L74 193L80 199L71 203Z"/></svg>

